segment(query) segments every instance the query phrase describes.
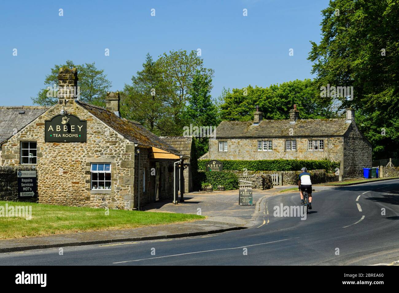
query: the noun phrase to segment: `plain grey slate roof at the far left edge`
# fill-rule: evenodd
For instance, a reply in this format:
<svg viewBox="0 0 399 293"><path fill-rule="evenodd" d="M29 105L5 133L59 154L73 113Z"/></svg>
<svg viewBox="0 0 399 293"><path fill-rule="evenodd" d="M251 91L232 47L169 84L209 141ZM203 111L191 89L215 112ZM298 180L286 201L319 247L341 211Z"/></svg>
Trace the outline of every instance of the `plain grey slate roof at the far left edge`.
<svg viewBox="0 0 399 293"><path fill-rule="evenodd" d="M38 118L50 107L0 106L0 143ZM19 113L24 112L24 114Z"/></svg>

